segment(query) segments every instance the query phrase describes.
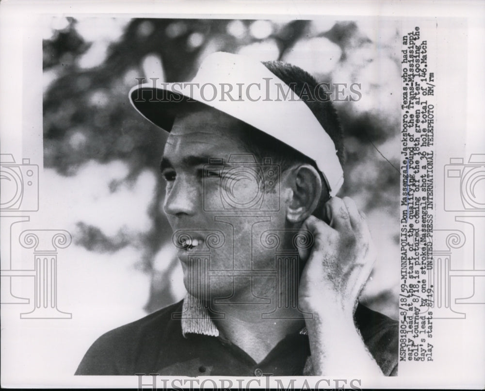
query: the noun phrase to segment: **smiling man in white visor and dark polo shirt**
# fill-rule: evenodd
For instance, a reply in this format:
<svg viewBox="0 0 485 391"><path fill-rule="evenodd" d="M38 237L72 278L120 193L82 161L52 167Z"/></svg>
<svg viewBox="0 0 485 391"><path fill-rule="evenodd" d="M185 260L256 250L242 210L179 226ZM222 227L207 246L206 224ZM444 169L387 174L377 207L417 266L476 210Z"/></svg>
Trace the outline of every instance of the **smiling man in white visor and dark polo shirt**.
<svg viewBox="0 0 485 391"><path fill-rule="evenodd" d="M358 304L375 256L335 196L342 137L322 88L213 53L192 83L132 89L170 132L164 212L188 293L101 336L76 374L397 374L397 322Z"/></svg>

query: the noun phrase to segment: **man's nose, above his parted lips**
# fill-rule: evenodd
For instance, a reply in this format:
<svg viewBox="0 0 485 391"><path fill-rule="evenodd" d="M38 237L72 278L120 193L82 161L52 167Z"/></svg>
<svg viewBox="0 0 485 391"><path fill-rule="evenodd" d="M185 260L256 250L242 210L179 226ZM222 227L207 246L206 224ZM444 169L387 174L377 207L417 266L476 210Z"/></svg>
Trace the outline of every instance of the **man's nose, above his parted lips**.
<svg viewBox="0 0 485 391"><path fill-rule="evenodd" d="M188 180L177 178L165 195L163 210L173 216L192 216L197 210L198 202L202 202L199 189Z"/></svg>

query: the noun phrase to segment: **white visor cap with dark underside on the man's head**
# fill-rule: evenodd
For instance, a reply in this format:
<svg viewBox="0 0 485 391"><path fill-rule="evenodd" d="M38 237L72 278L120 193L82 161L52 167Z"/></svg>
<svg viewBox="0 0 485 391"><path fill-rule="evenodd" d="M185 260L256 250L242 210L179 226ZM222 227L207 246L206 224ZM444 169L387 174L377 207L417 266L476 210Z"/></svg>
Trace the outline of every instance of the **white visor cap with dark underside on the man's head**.
<svg viewBox="0 0 485 391"><path fill-rule="evenodd" d="M261 130L314 160L330 195L343 170L335 144L307 104L265 65L226 52L208 55L190 82L157 81L134 86L133 107L163 130L172 129L184 102L200 102Z"/></svg>

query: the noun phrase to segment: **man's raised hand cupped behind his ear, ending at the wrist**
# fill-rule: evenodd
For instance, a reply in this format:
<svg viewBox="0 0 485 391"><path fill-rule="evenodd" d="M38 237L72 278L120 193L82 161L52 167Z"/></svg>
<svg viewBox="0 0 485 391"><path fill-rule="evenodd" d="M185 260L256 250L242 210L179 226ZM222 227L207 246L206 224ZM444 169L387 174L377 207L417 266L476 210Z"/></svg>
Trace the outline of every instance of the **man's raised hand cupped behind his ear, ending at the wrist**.
<svg viewBox="0 0 485 391"><path fill-rule="evenodd" d="M371 233L349 197L331 198L325 214L329 224L310 216L302 226L312 233L314 244L300 250L300 258L307 261L300 278L300 308L352 316L375 261Z"/></svg>

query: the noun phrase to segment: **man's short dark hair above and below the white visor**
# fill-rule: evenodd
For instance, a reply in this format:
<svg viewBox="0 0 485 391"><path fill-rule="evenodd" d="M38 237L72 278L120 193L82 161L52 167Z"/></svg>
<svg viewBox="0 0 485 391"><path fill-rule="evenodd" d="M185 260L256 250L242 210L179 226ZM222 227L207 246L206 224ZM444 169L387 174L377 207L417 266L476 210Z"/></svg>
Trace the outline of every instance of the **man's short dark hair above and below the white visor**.
<svg viewBox="0 0 485 391"><path fill-rule="evenodd" d="M324 129L322 131L326 131L334 142L339 162L343 166L345 155L339 117L322 84L319 84L313 76L298 66L282 61L266 61L262 64L277 78L286 83L295 95L305 101L320 125L322 125ZM322 97L328 97L328 99L323 99ZM252 126L247 125L242 143L245 149L253 153L260 162L262 162L263 158L271 158L273 163L280 166L281 172L289 169L294 164L306 163L315 167L323 179L321 171L312 159ZM325 182L323 181L324 184ZM320 203L323 204L328 198L328 189L324 186Z"/></svg>

